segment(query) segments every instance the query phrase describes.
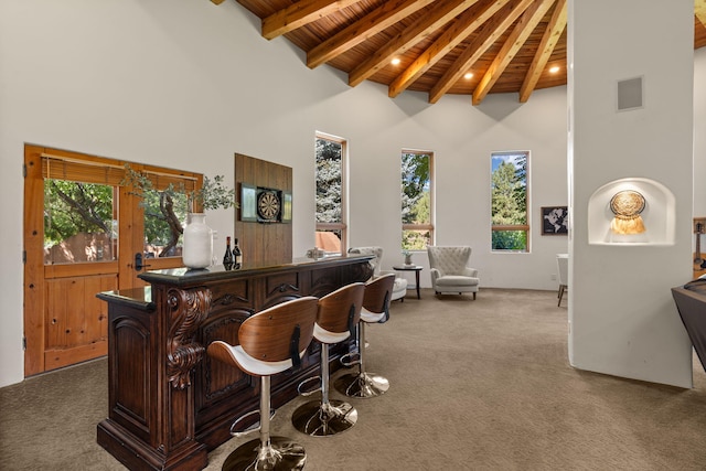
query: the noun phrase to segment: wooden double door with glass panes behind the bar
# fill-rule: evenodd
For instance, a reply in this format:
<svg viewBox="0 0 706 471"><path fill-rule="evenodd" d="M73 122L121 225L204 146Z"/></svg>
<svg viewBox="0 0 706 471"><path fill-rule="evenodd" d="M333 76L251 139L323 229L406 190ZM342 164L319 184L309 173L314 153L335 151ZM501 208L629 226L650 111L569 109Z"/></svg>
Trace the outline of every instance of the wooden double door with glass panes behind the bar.
<svg viewBox="0 0 706 471"><path fill-rule="evenodd" d="M182 261L159 211L124 184L126 162L28 144L24 165L24 374L31 376L105 355L107 307L96 293L145 286L137 277L142 270ZM195 173L130 167L158 190L202 182Z"/></svg>

